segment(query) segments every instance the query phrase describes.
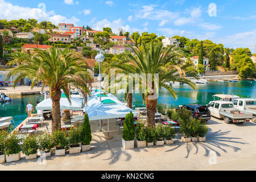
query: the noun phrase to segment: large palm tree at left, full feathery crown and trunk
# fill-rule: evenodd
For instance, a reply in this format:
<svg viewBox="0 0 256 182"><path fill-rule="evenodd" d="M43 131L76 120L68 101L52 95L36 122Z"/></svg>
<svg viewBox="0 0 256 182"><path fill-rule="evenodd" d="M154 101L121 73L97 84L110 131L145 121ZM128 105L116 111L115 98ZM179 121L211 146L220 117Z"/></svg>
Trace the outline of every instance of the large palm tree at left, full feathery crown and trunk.
<svg viewBox="0 0 256 182"><path fill-rule="evenodd" d="M14 87L23 77L32 80L31 89L35 82L39 80L43 81L43 86L49 86L52 100L52 131L55 131L60 125L61 89L63 89L69 101L71 101L71 98L68 92L68 84L72 84L83 92L90 94L86 80L92 81L92 77L87 71L88 68L88 64L80 53L69 48L61 51L51 47L49 51L35 49L27 63L14 68L7 77L16 76Z"/></svg>

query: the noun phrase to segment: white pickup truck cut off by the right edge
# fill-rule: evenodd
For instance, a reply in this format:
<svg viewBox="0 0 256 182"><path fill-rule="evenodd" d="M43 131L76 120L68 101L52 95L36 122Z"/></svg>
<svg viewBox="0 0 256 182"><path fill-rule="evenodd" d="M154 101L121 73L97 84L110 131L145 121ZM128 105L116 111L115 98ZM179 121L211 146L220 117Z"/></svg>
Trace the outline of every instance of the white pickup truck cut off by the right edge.
<svg viewBox="0 0 256 182"><path fill-rule="evenodd" d="M256 123L256 99L251 98L237 98L233 101L235 109L247 111L253 114L252 122Z"/></svg>

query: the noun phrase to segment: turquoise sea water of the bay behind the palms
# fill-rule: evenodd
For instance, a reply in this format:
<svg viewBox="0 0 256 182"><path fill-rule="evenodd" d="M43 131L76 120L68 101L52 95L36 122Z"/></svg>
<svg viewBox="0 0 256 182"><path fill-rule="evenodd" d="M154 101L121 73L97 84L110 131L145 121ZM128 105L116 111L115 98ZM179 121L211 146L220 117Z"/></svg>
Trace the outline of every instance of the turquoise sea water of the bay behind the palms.
<svg viewBox="0 0 256 182"><path fill-rule="evenodd" d="M175 101L171 94L163 89L159 93L158 102L164 102L169 105L184 105L184 104L208 104L212 101L214 94L234 94L242 98L256 98L256 82L255 81L240 81L240 82L209 82L209 84L197 85L197 90L189 88L187 85L174 86L178 99ZM123 94L116 94L119 100L123 99ZM133 94L135 106L143 106L141 94ZM1 117L12 116L15 125L27 118L26 105L31 102L35 109L35 102L38 99L43 101L43 97L24 96L19 98L12 98L13 101L7 104L0 103ZM36 112L35 112L36 113Z"/></svg>

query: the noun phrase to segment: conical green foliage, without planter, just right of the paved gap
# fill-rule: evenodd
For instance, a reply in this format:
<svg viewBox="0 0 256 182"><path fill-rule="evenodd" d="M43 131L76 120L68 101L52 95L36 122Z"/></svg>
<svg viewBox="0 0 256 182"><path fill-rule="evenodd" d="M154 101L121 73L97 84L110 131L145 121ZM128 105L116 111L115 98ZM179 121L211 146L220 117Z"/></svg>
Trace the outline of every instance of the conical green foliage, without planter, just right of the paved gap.
<svg viewBox="0 0 256 182"><path fill-rule="evenodd" d="M125 117L125 123L123 124L122 138L126 141L130 141L130 140L133 140L134 137L135 137L134 117L133 117L133 113L130 112Z"/></svg>

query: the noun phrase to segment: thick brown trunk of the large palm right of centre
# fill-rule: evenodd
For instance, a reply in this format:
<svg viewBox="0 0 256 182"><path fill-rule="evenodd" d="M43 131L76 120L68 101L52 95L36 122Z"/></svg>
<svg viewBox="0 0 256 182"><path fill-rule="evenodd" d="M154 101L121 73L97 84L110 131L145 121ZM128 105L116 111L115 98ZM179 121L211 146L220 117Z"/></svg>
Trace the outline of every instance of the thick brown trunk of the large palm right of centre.
<svg viewBox="0 0 256 182"><path fill-rule="evenodd" d="M147 108L147 127L155 127L155 111L156 105L158 104L158 99L150 100L146 97L146 108Z"/></svg>

